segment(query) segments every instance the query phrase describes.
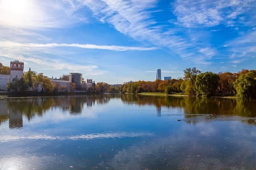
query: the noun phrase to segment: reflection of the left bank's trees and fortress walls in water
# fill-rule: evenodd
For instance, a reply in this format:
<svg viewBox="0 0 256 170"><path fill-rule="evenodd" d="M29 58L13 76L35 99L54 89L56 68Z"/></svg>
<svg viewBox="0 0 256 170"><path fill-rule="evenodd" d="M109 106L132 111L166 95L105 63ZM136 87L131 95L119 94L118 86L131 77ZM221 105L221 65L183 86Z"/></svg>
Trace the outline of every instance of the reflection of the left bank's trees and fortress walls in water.
<svg viewBox="0 0 256 170"><path fill-rule="evenodd" d="M120 95L104 94L4 99L0 101L0 106L3 105L3 107L0 107L0 125L2 122L9 120L14 127L15 124L19 127L23 124L23 121L21 120L22 115L30 120L34 116L43 116L44 113L52 108L60 108L64 111L70 111L70 114L73 115L81 114L84 104L91 107L94 106L95 103L97 105L105 105L112 98L120 98Z"/></svg>

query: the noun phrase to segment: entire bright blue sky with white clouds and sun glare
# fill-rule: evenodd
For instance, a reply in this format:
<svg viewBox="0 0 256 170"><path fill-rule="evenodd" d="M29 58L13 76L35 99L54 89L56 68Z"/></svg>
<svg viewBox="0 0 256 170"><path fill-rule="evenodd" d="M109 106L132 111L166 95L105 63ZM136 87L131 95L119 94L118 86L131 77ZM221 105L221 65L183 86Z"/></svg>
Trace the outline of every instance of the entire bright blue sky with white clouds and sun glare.
<svg viewBox="0 0 256 170"><path fill-rule="evenodd" d="M0 62L110 84L256 69L255 0L0 0Z"/></svg>

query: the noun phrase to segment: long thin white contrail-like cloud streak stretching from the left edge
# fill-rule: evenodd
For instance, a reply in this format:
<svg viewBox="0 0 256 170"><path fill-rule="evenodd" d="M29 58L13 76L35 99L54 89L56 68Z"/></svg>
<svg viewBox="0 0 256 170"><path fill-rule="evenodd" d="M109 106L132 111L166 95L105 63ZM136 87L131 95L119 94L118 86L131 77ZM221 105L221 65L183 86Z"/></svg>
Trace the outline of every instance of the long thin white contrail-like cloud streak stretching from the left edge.
<svg viewBox="0 0 256 170"><path fill-rule="evenodd" d="M78 48L87 48L87 49L101 49L101 50L111 50L111 51L128 51L128 50L137 50L137 51L147 51L155 50L155 47L125 47L125 46L116 46L116 45L93 45L93 44L36 44L36 43L18 43L18 42L8 42L0 41L0 47L32 47L32 48L47 48L47 47L78 47Z"/></svg>

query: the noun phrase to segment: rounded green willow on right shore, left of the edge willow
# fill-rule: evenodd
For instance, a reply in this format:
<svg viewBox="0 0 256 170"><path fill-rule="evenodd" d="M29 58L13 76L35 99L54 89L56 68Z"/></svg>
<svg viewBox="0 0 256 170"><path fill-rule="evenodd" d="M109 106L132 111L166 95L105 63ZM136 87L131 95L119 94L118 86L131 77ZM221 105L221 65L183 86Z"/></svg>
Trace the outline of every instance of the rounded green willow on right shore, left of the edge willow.
<svg viewBox="0 0 256 170"><path fill-rule="evenodd" d="M203 96L210 96L215 93L218 88L219 81L218 74L212 72L205 72L199 74L196 77L195 88L198 94L201 93Z"/></svg>

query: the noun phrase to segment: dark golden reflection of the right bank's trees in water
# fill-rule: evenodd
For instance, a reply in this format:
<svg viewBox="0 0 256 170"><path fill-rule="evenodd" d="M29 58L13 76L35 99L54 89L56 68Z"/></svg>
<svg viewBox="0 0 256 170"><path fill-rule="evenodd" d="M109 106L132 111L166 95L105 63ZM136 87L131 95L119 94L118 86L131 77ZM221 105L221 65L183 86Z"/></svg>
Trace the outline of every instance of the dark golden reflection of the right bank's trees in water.
<svg viewBox="0 0 256 170"><path fill-rule="evenodd" d="M154 105L157 108L182 108L185 118L192 114L216 114L256 117L255 100L201 98L201 97L176 97L176 96L147 96L147 95L122 95L122 101L127 104Z"/></svg>

